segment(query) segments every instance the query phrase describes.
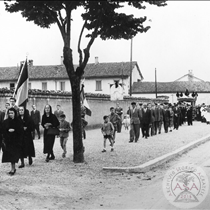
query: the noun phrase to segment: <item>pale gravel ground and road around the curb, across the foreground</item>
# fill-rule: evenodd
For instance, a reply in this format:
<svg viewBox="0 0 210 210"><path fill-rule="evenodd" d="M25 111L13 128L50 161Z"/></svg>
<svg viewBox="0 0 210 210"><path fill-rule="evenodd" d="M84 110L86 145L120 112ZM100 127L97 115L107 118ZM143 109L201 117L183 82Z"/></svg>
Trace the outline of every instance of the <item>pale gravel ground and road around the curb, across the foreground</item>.
<svg viewBox="0 0 210 210"><path fill-rule="evenodd" d="M105 172L102 167L141 164L209 133L210 125L195 123L192 127L185 125L178 131L129 144L128 131L123 130L117 134L116 150L104 154L100 129L90 130L84 141L84 164L72 162L72 137L65 159L56 139L56 159L49 163L42 153L43 140L35 140L36 158L32 166L26 161L26 167L17 169L15 176L10 177L7 174L10 165L0 164L0 209L175 209L163 195L163 176L174 163L188 158L210 174L206 167L210 165L209 142L145 174ZM209 209L209 200L208 197L199 209L205 206Z"/></svg>

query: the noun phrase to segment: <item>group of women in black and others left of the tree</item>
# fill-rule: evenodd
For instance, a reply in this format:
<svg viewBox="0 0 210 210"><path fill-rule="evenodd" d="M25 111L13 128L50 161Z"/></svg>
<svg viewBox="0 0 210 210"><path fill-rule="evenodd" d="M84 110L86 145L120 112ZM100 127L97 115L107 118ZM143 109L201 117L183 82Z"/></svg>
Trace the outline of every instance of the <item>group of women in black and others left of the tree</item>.
<svg viewBox="0 0 210 210"><path fill-rule="evenodd" d="M43 133L43 153L46 154L46 162L55 159L53 146L55 137L60 137L60 145L63 151L62 157L66 156L66 142L68 140L71 125L65 120L66 116L57 105L52 112L52 107L44 106L41 117L40 111L32 105L29 111L24 106L16 106L16 99L11 97L5 104L5 110L0 111L0 149L2 148L2 163L11 163L9 175L16 173L15 164L20 161L19 168L25 167L24 159L28 158L29 165L33 164L35 157L34 142L35 131L40 139L40 125Z"/></svg>

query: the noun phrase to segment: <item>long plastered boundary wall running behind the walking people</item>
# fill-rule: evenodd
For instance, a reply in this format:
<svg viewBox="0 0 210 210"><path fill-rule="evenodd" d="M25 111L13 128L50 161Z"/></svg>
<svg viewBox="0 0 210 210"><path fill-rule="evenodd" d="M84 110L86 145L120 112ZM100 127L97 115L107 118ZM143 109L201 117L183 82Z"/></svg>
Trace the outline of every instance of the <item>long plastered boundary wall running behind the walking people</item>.
<svg viewBox="0 0 210 210"><path fill-rule="evenodd" d="M5 108L5 103L9 101L9 98L12 94L0 93L0 109L3 110ZM89 94L86 96L87 101L89 103L90 109L92 111L92 116L86 116L88 121L88 126L97 127L101 125L103 122L103 116L108 115L110 113L110 107L116 106L116 101L110 101L109 95L96 95L96 94ZM120 106L123 108L124 113L128 110L132 101L136 101L137 103L142 102L151 102L152 99L149 98L134 98L134 97L127 97L124 98L123 101L118 101ZM154 100L157 102L165 102L163 100ZM40 111L41 115L44 112L44 106L46 104L50 104L52 106L53 112L56 110L56 105L61 105L62 110L66 114L66 120L71 122L72 121L72 99L71 94L66 95L58 95L58 94L51 94L51 93L36 93L36 94L29 94L29 101L27 104L27 109L29 111L32 110L31 106L35 104L37 109Z"/></svg>

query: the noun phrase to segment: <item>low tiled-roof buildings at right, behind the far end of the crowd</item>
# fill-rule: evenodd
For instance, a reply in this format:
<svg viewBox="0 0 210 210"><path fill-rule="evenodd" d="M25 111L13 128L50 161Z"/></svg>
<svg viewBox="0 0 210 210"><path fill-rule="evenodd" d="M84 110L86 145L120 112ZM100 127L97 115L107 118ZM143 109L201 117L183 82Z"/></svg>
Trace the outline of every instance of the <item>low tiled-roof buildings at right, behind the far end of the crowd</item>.
<svg viewBox="0 0 210 210"><path fill-rule="evenodd" d="M185 96L186 90L189 91L189 97L192 93L197 93L196 104L209 104L210 105L210 82L206 82L195 77L192 71L180 77L173 82L135 82L133 84L132 93L136 97L156 98L156 85L157 97L168 98L170 103L177 103L179 94Z"/></svg>

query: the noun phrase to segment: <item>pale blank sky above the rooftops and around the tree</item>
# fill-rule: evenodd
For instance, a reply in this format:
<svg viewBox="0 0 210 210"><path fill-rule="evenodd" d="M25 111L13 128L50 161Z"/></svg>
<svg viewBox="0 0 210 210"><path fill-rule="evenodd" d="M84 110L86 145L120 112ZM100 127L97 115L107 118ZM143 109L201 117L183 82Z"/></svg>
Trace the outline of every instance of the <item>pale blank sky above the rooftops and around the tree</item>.
<svg viewBox="0 0 210 210"><path fill-rule="evenodd" d="M189 70L210 81L210 1L168 1L167 6L145 4L145 10L124 8L126 13L147 16L146 33L133 38L132 60L137 61L143 81L171 82ZM74 64L78 64L77 42L82 28L81 10L73 13L72 39ZM5 11L0 1L0 67L17 66L32 59L34 65L59 65L63 40L56 24L43 29L27 22L20 13ZM85 48L86 41L82 42ZM90 50L89 63L129 62L130 40L97 38Z"/></svg>

